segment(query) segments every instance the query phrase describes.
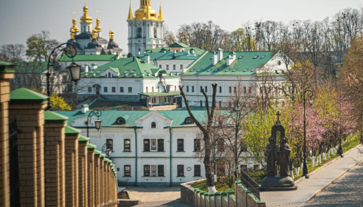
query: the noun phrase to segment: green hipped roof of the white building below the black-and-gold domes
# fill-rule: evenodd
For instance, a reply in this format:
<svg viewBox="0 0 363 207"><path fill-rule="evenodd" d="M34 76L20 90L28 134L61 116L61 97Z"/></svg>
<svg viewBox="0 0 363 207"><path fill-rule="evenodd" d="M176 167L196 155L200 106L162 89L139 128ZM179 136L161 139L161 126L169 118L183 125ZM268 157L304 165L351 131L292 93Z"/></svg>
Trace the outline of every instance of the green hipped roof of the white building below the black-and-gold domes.
<svg viewBox="0 0 363 207"><path fill-rule="evenodd" d="M110 68L118 76L114 78L158 78L157 72L160 70L158 66L149 64L144 60L140 60L136 57L119 58L112 62L108 62L102 66L99 66L93 71L83 72L82 78L100 78L104 77L101 74ZM156 74L156 76L154 76ZM164 78L172 77L169 75ZM173 76L175 77L175 75Z"/></svg>

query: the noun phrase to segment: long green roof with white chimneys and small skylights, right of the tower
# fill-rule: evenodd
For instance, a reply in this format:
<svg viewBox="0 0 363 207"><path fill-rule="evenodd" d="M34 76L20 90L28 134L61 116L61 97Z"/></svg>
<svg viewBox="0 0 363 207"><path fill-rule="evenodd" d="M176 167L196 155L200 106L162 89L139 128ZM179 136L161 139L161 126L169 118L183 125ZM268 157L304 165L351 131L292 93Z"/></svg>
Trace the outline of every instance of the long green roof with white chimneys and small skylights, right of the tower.
<svg viewBox="0 0 363 207"><path fill-rule="evenodd" d="M193 66L184 73L188 75L228 75L251 76L255 75L256 68L263 67L274 55L275 51L235 52L236 58L227 65L226 57L230 52L223 52L223 59L213 65L213 53L208 52L202 58L192 63Z"/></svg>

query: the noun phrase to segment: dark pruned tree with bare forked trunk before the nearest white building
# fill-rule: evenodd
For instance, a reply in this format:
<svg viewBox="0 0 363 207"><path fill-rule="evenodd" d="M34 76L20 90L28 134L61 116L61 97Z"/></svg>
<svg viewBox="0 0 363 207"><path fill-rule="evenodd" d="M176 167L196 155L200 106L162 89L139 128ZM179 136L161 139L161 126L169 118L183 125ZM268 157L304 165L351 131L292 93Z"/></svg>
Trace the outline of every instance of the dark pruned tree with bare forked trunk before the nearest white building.
<svg viewBox="0 0 363 207"><path fill-rule="evenodd" d="M203 133L203 143L204 143L203 164L204 164L204 169L205 169L205 176L206 176L206 180L207 180L208 191L209 192L216 192L216 189L215 189L214 183L213 183L213 178L212 178L212 171L211 171L211 160L210 160L211 148L210 148L210 143L211 143L211 129L212 129L212 123L213 123L213 116L214 116L214 111L215 111L215 108L216 108L215 96L216 96L216 92L217 92L217 83L212 84L212 88L213 88L212 107L209 106L208 96L205 93L205 91L202 89L202 93L203 93L203 95L205 97L205 100L206 100L206 111L207 111L207 115L208 115L207 124L202 125L198 121L198 119L193 115L192 110L189 107L189 103L188 103L188 100L186 98L186 95L185 95L185 93L183 91L183 87L179 86L180 95L184 98L185 105L187 107L189 115L191 116L194 123L196 123L198 128Z"/></svg>

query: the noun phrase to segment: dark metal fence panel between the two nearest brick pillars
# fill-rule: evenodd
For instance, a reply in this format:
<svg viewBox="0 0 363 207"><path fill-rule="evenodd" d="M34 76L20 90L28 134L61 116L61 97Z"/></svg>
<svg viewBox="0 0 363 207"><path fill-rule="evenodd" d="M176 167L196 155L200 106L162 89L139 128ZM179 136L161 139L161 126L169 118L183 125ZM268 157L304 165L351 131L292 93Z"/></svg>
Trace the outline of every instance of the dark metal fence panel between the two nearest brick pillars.
<svg viewBox="0 0 363 207"><path fill-rule="evenodd" d="M18 129L16 121L9 124L10 151L10 206L20 206L19 167L18 167Z"/></svg>

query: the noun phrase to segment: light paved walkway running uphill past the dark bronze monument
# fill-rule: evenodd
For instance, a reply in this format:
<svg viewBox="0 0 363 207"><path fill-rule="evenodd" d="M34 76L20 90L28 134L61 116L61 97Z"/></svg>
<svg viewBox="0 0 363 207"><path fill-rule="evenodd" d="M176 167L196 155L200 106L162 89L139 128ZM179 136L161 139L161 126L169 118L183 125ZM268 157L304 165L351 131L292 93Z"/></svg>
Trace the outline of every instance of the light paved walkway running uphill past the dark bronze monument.
<svg viewBox="0 0 363 207"><path fill-rule="evenodd" d="M363 151L363 147L359 145L345 153L344 158L339 157L309 174L309 179L300 179L295 183L297 190L262 191L261 200L266 202L266 206L300 206L305 204L316 194L320 193L322 189L329 186L332 181L339 179L347 170L363 159L359 149Z"/></svg>

